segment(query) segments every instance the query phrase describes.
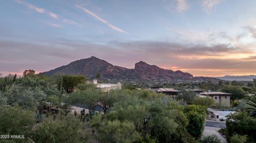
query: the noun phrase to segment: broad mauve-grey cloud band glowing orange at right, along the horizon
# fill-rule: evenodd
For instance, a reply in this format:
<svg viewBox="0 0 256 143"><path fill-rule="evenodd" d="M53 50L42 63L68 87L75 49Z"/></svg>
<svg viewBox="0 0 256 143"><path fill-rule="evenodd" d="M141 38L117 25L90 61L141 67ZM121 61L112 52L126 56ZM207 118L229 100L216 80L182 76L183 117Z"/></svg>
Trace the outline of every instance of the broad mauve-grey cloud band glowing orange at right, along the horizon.
<svg viewBox="0 0 256 143"><path fill-rule="evenodd" d="M21 69L46 71L94 55L126 68L134 68L135 62L145 61L170 69L186 70L195 75L256 73L256 51L247 49L246 45L229 48L227 45L190 46L157 41L113 41L102 45L67 39L47 44L0 40L0 45L0 65L8 72ZM17 50L20 52L17 53ZM157 58L152 58L156 55Z"/></svg>

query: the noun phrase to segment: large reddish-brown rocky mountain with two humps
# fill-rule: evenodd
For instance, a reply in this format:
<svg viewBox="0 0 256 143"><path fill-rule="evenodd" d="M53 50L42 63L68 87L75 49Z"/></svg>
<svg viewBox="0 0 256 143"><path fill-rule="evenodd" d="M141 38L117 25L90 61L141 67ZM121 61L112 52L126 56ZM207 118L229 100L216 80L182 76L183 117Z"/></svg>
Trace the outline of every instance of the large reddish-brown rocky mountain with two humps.
<svg viewBox="0 0 256 143"><path fill-rule="evenodd" d="M193 75L182 71L161 69L156 65L149 65L145 62L135 63L134 69L127 69L121 66L110 64L97 57L85 58L60 66L54 70L43 72L46 75L55 74L83 74L89 79L95 78L100 73L105 79L141 79L141 80L177 80L193 79Z"/></svg>

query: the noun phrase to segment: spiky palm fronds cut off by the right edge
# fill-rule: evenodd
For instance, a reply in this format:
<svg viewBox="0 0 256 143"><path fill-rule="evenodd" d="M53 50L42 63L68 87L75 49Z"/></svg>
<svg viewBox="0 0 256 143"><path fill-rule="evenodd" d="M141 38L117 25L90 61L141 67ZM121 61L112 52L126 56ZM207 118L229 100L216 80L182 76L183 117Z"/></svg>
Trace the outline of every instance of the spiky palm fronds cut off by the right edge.
<svg viewBox="0 0 256 143"><path fill-rule="evenodd" d="M256 117L256 96L246 98L245 101L245 111L249 113L249 116Z"/></svg>

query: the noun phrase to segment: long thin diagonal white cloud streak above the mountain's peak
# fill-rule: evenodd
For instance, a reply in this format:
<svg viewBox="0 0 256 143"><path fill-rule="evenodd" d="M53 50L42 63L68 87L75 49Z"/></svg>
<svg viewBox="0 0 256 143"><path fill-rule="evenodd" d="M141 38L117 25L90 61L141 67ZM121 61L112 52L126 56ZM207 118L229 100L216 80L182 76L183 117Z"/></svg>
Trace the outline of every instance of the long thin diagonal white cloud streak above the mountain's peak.
<svg viewBox="0 0 256 143"><path fill-rule="evenodd" d="M126 33L126 34L127 34L126 31L124 31L124 30L122 30L121 28L118 28L118 27L114 26L113 24L109 23L108 21L106 21L106 20L100 18L100 16L98 16L97 14L95 14L95 13L93 13L93 12L91 12L91 11L85 9L85 8L82 7L82 6L79 6L79 5L75 5L75 6L76 6L78 9L81 9L81 10L83 10L84 12L86 12L87 14L93 16L95 19L99 20L100 22L107 24L107 26L109 26L111 29L116 30L116 31L121 32L121 33Z"/></svg>

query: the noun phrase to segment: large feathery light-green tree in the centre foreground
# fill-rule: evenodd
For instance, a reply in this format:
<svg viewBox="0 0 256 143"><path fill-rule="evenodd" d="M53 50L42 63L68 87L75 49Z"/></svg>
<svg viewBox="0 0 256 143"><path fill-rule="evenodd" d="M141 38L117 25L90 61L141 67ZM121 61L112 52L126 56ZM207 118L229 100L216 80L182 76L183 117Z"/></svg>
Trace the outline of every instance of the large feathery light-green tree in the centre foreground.
<svg viewBox="0 0 256 143"><path fill-rule="evenodd" d="M178 102L165 100L164 96L143 94L140 90L115 91L122 98L106 114L106 120L130 121L142 140L156 139L159 142L189 142L193 139L187 132L188 120ZM137 92L137 94L135 94ZM135 96L134 96L135 95ZM100 127L99 118L97 124ZM140 139L141 140L141 139Z"/></svg>

